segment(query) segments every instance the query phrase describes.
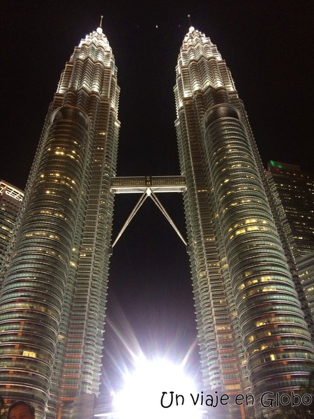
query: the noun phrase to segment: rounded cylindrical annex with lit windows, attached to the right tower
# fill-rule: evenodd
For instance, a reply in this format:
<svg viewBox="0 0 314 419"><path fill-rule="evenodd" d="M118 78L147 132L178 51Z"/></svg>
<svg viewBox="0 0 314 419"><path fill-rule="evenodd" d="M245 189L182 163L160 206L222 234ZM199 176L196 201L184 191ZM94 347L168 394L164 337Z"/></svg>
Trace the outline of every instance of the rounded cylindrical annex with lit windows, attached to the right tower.
<svg viewBox="0 0 314 419"><path fill-rule="evenodd" d="M313 346L239 112L229 104L215 105L204 115L204 126L214 200L258 401L264 391L298 390L313 369Z"/></svg>

